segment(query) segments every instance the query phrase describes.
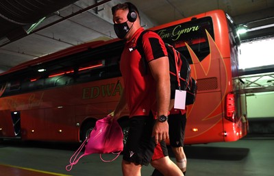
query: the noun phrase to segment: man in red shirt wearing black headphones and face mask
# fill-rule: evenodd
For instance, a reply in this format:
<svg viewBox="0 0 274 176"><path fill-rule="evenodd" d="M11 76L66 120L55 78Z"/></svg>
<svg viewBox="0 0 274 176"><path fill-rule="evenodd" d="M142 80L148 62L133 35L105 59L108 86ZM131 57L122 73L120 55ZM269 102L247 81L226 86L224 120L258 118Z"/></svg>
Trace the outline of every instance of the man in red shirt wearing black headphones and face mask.
<svg viewBox="0 0 274 176"><path fill-rule="evenodd" d="M120 65L124 89L112 112L117 119L126 106L129 108L130 129L123 151L123 175L139 176L142 165L149 163L163 175L183 175L170 160L164 142L169 138L170 103L169 60L164 42L154 32L143 35L142 47L149 66L149 72L145 73L136 49L138 36L144 30L137 8L132 3L118 4L112 7L112 14L116 35L127 40ZM157 112L156 120L151 112Z"/></svg>

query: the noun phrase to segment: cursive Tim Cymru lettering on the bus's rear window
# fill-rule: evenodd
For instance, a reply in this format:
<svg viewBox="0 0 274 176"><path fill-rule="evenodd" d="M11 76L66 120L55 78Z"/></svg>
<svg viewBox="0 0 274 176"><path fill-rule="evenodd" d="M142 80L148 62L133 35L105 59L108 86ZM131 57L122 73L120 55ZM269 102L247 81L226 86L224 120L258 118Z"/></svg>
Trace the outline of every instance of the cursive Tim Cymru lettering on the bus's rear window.
<svg viewBox="0 0 274 176"><path fill-rule="evenodd" d="M166 29L162 29L158 32L159 36L164 38L173 38L173 41L176 41L180 38L182 34L190 33L190 32L196 32L199 30L199 25L187 27L182 29L182 25L176 25L172 30L169 30L171 32L166 32Z"/></svg>

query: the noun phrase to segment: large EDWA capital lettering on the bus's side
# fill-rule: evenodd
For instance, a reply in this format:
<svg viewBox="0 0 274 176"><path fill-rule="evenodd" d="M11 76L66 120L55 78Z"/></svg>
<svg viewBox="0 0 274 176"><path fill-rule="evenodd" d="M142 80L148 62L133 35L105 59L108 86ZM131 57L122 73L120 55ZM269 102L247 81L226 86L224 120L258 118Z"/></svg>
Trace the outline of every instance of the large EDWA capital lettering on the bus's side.
<svg viewBox="0 0 274 176"><path fill-rule="evenodd" d="M122 90L123 88L120 82L117 84L112 83L83 88L82 99L96 99L100 95L101 97L116 96L117 93L121 95Z"/></svg>

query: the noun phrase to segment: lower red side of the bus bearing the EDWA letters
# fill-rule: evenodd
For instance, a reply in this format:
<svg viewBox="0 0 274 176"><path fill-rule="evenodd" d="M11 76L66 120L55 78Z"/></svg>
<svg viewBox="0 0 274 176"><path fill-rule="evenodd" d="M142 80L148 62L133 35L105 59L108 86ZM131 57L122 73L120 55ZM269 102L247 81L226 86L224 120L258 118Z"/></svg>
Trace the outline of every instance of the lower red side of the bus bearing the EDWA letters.
<svg viewBox="0 0 274 176"><path fill-rule="evenodd" d="M123 90L122 84L116 77L49 88L9 97L5 102L13 103L2 103L2 108L20 112L23 140L79 142L83 121L86 118L96 121L112 112ZM0 111L3 137L15 137L10 110Z"/></svg>

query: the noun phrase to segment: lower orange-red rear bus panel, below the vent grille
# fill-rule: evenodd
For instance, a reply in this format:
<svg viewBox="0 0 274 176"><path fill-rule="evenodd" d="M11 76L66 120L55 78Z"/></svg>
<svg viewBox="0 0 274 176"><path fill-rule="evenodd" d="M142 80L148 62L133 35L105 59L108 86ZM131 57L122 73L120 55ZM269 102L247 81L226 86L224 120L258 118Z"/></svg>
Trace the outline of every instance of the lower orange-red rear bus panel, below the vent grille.
<svg viewBox="0 0 274 176"><path fill-rule="evenodd" d="M220 99L220 92L197 94L193 109L188 108L187 112L185 144L223 142Z"/></svg>

